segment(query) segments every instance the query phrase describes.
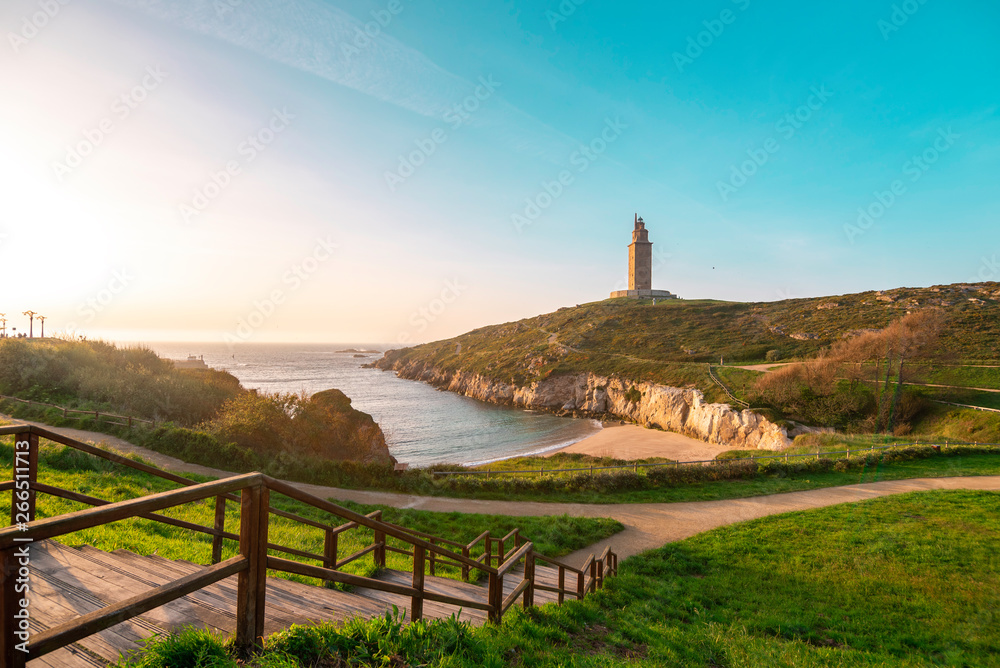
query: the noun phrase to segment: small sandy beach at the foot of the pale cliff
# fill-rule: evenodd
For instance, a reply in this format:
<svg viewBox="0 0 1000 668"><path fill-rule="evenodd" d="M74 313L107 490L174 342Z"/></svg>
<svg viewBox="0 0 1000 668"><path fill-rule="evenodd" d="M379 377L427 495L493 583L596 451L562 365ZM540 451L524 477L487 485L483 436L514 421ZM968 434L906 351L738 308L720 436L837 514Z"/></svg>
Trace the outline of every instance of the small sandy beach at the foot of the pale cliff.
<svg viewBox="0 0 1000 668"><path fill-rule="evenodd" d="M594 457L645 459L666 457L681 462L713 459L720 452L732 450L726 445L705 443L668 431L646 429L634 424L604 423L604 429L573 445L548 453L576 452Z"/></svg>

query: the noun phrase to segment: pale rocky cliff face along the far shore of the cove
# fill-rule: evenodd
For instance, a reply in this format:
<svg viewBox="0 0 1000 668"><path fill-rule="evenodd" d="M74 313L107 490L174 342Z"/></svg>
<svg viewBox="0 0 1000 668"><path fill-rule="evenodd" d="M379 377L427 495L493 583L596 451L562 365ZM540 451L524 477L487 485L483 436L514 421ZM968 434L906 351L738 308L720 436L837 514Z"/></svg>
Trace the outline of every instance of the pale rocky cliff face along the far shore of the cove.
<svg viewBox="0 0 1000 668"><path fill-rule="evenodd" d="M784 428L753 411L706 403L695 389L632 383L593 373L553 375L516 387L480 374L443 372L424 362L398 359L391 352L374 366L481 401L561 415L614 417L739 450L781 450L791 444Z"/></svg>

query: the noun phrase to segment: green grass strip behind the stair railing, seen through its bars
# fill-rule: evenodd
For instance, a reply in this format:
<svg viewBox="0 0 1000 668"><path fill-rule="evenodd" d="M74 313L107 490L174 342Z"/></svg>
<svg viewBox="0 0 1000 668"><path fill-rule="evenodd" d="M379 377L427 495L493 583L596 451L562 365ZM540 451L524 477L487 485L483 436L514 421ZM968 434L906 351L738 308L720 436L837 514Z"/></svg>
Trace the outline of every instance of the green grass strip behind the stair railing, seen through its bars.
<svg viewBox="0 0 1000 668"><path fill-rule="evenodd" d="M0 480L11 477L11 439L0 439ZM206 480L191 476L199 481ZM162 478L128 469L105 460L97 459L64 446L43 445L40 451L39 482L54 487L76 491L107 501L134 499L148 494L177 488L177 485ZM539 552L552 557L569 554L606 538L618 531L622 525L614 520L575 517L504 517L497 515L476 515L459 513L433 513L418 510L400 510L388 507L365 506L351 502L337 501L352 510L369 513L376 509L383 511L383 519L449 540L468 543L483 531L489 530L494 536L502 536L515 527L522 535L535 542ZM163 514L186 520L202 526L212 526L214 521L214 499L185 504L164 511ZM311 506L275 494L271 505L308 517L317 521L344 523ZM37 518L52 517L86 508L83 504L66 501L41 494L38 497ZM239 533L239 508L235 502L227 504L226 529ZM10 495L0 495L0 513L10 512ZM348 531L341 535L340 558L367 547L373 541L368 529ZM312 552L323 553L324 532L292 520L271 517L269 527L271 542ZM158 554L168 559L186 559L206 564L211 560L211 537L185 529L168 526L152 520L129 519L111 525L95 527L62 536L60 542L70 545L93 545L102 550L127 549L138 554ZM226 541L223 558L235 556L236 543ZM481 548L480 548L481 549ZM277 554L277 553L275 553ZM299 557L280 556L302 560ZM389 553L387 566L409 570L411 564L403 555ZM368 574L374 570L373 558L367 557L349 564L348 572ZM442 569L442 575L458 577L457 570ZM307 578L283 575L289 579L312 582Z"/></svg>

